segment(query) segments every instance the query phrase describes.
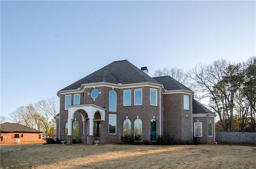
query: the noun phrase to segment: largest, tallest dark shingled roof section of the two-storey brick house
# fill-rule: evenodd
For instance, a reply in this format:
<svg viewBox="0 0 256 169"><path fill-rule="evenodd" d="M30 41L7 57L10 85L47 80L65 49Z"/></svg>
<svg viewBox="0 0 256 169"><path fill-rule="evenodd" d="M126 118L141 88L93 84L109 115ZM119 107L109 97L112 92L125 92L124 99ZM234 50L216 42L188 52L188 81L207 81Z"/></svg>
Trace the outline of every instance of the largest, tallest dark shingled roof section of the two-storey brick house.
<svg viewBox="0 0 256 169"><path fill-rule="evenodd" d="M156 80L142 72L127 60L115 61L92 74L74 82L60 91L78 89L82 84L107 82L111 84L135 84L151 82L159 84Z"/></svg>

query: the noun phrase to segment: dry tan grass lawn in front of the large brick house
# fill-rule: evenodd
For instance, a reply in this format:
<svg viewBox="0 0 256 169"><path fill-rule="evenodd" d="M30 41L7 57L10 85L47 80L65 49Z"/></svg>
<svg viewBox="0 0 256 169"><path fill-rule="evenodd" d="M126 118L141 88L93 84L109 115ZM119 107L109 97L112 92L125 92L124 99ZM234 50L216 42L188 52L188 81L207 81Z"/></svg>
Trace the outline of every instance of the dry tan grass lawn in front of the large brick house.
<svg viewBox="0 0 256 169"><path fill-rule="evenodd" d="M1 169L255 169L256 147L239 145L15 145Z"/></svg>

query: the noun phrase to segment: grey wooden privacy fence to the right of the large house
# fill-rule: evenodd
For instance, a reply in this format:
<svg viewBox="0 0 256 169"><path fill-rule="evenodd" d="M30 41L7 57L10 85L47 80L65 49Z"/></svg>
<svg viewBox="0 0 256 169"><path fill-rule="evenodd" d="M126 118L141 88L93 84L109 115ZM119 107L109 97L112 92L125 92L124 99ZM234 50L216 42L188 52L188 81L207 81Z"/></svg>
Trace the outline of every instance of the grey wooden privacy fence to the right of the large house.
<svg viewBox="0 0 256 169"><path fill-rule="evenodd" d="M218 144L255 144L256 132L216 132Z"/></svg>

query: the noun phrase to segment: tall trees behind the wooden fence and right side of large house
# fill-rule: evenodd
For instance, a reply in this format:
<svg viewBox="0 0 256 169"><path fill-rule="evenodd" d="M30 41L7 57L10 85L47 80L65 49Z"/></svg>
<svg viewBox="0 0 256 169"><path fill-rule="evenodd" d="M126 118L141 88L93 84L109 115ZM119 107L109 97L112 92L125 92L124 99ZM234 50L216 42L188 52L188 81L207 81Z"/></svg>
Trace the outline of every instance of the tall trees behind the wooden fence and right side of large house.
<svg viewBox="0 0 256 169"><path fill-rule="evenodd" d="M167 75L193 89L197 100L209 100L218 115L216 131L256 131L256 56L242 63L200 63L186 72L164 68L153 76Z"/></svg>

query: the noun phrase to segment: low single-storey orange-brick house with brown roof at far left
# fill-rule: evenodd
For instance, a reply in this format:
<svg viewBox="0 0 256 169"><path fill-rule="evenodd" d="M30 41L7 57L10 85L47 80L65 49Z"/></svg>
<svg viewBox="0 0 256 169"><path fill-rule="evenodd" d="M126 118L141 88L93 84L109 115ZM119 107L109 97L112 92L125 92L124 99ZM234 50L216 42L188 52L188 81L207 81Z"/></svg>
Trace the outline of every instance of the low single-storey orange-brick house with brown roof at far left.
<svg viewBox="0 0 256 169"><path fill-rule="evenodd" d="M1 141L40 141L42 140L42 131L32 129L18 123L2 123L0 124Z"/></svg>

